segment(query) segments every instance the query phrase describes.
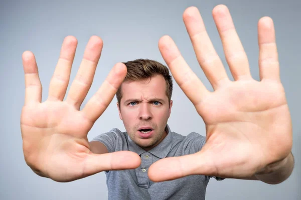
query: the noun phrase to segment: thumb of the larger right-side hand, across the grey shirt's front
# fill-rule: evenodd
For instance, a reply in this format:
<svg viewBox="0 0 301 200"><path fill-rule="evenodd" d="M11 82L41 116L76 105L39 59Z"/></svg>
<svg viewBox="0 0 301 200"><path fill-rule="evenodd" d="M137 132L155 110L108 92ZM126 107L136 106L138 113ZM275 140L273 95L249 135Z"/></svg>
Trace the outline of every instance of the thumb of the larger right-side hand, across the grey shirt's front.
<svg viewBox="0 0 301 200"><path fill-rule="evenodd" d="M215 173L214 162L207 153L197 152L179 157L158 160L148 169L148 177L154 182L173 180L192 174L210 175Z"/></svg>

